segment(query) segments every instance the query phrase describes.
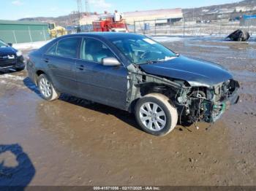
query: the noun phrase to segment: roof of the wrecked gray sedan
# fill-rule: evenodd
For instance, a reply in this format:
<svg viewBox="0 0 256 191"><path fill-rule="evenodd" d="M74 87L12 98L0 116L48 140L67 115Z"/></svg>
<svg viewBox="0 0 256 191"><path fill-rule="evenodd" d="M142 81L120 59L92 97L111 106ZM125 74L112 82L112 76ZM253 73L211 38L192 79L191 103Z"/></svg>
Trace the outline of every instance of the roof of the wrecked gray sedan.
<svg viewBox="0 0 256 191"><path fill-rule="evenodd" d="M131 38L131 37L138 37L142 35L132 34L132 33L117 33L117 32L90 32L90 33L69 34L69 35L66 35L65 37L72 37L72 36L91 36L91 37L99 37L102 39L114 39L114 38Z"/></svg>

